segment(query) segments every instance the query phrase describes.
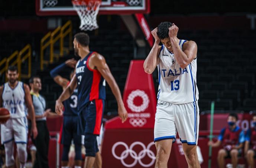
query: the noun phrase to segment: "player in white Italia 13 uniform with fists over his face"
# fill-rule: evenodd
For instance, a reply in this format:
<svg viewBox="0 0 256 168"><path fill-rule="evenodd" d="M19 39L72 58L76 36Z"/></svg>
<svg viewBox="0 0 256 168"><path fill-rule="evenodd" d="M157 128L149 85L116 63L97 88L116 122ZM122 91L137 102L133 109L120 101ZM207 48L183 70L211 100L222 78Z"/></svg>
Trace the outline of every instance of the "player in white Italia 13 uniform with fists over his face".
<svg viewBox="0 0 256 168"><path fill-rule="evenodd" d="M144 62L145 72L158 67L158 104L155 114L155 168L166 168L176 133L190 168L200 167L197 157L199 108L196 86L197 45L177 38L178 27L162 22L152 30L154 46ZM159 43L162 46L159 46Z"/></svg>

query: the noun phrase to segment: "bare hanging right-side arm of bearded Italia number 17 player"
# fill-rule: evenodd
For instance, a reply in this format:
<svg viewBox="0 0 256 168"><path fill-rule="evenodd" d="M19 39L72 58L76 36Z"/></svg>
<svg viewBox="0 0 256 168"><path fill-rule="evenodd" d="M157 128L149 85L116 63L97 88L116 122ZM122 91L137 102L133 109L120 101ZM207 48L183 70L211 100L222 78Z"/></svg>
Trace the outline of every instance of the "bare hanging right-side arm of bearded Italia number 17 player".
<svg viewBox="0 0 256 168"><path fill-rule="evenodd" d="M29 113L29 119L31 120L31 123L32 123L31 131L33 134L33 138L35 139L38 133L36 128L35 111L34 111L34 106L31 99L31 95L30 95L29 86L24 84L24 90L25 90L25 101L26 101L26 105Z"/></svg>

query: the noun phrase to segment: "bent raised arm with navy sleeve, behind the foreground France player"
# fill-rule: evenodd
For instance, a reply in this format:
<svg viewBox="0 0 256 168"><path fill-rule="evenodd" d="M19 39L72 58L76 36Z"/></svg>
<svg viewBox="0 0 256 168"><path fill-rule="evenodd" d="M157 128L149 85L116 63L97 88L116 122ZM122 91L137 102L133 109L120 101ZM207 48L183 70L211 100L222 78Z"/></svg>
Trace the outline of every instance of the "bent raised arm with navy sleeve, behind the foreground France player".
<svg viewBox="0 0 256 168"><path fill-rule="evenodd" d="M65 89L68 86L69 80L66 78L63 78L59 75L61 71L63 71L67 66L74 68L76 65L75 59L69 59L66 60L65 63L60 64L59 66L55 67L50 71L50 76L53 78L53 80L60 85L63 89Z"/></svg>

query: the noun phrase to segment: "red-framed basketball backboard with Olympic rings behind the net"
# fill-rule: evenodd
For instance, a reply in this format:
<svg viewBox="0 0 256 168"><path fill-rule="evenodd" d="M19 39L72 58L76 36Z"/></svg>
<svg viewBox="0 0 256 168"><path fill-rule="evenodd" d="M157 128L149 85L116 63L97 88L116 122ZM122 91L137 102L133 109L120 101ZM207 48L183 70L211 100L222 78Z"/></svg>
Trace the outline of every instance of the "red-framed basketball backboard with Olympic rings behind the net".
<svg viewBox="0 0 256 168"><path fill-rule="evenodd" d="M149 13L150 0L102 0L99 14ZM77 15L71 0L36 0L39 16Z"/></svg>

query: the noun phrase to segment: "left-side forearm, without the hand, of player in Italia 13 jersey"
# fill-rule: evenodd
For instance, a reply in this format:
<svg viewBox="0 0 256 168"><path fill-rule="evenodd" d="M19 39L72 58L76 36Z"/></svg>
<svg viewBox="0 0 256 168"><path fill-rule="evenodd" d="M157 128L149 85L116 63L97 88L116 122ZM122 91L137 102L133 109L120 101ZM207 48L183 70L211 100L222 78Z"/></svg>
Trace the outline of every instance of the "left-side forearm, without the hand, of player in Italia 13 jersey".
<svg viewBox="0 0 256 168"><path fill-rule="evenodd" d="M159 47L159 42L155 41L154 46L152 47L150 53L144 61L144 70L146 73L151 74L154 72L155 67L157 66L157 51Z"/></svg>

